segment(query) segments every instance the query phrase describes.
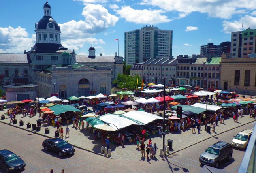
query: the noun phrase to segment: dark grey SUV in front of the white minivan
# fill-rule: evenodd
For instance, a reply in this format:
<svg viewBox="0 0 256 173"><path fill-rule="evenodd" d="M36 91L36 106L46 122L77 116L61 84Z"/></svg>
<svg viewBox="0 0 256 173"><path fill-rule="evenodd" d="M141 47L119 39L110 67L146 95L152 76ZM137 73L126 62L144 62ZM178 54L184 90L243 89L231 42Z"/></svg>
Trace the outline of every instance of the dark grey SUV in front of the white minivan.
<svg viewBox="0 0 256 173"><path fill-rule="evenodd" d="M225 159L232 158L233 148L232 145L225 141L218 141L217 143L205 149L200 155L199 161L203 165L219 167L221 162Z"/></svg>

